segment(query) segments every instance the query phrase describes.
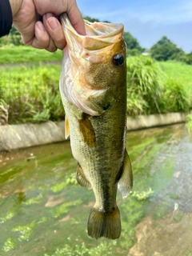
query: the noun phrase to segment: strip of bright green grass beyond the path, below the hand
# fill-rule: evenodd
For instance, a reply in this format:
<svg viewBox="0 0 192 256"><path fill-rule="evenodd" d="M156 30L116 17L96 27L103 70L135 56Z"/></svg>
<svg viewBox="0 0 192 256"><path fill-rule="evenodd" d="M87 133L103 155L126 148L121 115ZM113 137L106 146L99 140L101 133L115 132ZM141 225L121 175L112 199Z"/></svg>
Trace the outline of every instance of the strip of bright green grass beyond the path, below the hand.
<svg viewBox="0 0 192 256"><path fill-rule="evenodd" d="M62 50L50 53L47 50L38 50L31 46L0 47L0 64L55 61L62 61Z"/></svg>

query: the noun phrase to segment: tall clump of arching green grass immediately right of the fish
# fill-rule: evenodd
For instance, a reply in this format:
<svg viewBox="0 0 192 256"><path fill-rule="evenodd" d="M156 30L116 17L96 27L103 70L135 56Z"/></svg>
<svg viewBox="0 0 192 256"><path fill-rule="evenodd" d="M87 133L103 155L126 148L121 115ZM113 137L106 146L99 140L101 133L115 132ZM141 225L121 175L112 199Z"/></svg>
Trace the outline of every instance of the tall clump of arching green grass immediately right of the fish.
<svg viewBox="0 0 192 256"><path fill-rule="evenodd" d="M127 111L129 115L159 113L162 70L152 58L127 59Z"/></svg>

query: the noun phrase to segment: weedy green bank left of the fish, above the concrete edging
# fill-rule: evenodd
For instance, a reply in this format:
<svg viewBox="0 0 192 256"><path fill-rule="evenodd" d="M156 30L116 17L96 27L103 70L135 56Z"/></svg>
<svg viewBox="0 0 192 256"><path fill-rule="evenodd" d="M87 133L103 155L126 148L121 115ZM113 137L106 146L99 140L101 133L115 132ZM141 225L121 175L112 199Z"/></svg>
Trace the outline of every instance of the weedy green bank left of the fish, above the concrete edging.
<svg viewBox="0 0 192 256"><path fill-rule="evenodd" d="M0 77L9 123L58 121L64 118L58 89L61 66L3 69ZM4 107L5 108L5 107Z"/></svg>

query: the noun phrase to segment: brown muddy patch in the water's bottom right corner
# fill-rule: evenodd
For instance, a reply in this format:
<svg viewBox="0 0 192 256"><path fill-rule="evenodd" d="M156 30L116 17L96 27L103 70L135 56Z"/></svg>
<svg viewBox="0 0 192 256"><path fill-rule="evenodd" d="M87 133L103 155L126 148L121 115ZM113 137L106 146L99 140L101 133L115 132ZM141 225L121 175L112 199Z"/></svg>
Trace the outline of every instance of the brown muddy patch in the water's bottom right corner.
<svg viewBox="0 0 192 256"><path fill-rule="evenodd" d="M184 214L179 222L174 214L158 220L144 218L135 228L138 242L128 256L192 255L192 214Z"/></svg>

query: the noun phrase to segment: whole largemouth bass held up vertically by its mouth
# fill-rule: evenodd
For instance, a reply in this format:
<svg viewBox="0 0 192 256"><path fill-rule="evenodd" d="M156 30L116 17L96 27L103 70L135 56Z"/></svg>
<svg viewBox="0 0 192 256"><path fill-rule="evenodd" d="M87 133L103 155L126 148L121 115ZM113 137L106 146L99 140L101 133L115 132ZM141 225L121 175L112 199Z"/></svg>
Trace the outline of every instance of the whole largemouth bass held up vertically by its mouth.
<svg viewBox="0 0 192 256"><path fill-rule="evenodd" d="M94 190L88 234L119 238L117 188L126 198L133 185L126 152L126 43L122 24L88 22L78 34L61 16L66 47L60 92L66 112L66 138L78 161L76 178Z"/></svg>

